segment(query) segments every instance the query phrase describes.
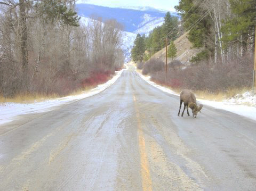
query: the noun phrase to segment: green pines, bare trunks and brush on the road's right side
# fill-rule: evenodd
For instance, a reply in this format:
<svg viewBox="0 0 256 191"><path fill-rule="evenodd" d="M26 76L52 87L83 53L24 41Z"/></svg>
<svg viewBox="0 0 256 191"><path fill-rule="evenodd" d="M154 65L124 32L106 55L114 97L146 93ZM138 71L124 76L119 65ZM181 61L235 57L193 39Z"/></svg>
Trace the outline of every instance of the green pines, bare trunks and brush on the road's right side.
<svg viewBox="0 0 256 191"><path fill-rule="evenodd" d="M256 1L180 0L175 9L182 18L179 22L172 20L171 27L167 28L169 16L166 14L163 26L155 28L148 38L138 35L134 41L132 59L142 72L178 89L217 93L252 87ZM179 60L172 61L175 56L171 56L175 55L172 41L184 32L192 44L186 48L197 49L190 65L186 66ZM142 38L140 43L138 38ZM165 46L166 38L168 45L172 45L169 46L172 53L167 55L171 57L167 72L162 57L148 61L150 52L155 53Z"/></svg>

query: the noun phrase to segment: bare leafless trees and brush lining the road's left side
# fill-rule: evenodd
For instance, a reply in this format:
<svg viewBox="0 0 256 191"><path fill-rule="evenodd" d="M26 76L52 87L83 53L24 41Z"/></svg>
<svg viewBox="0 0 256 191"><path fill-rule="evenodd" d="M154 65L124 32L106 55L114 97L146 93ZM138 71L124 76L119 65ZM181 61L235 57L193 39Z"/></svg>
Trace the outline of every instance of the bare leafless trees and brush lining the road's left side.
<svg viewBox="0 0 256 191"><path fill-rule="evenodd" d="M123 65L121 24L79 23L76 1L0 1L0 96L66 95Z"/></svg>

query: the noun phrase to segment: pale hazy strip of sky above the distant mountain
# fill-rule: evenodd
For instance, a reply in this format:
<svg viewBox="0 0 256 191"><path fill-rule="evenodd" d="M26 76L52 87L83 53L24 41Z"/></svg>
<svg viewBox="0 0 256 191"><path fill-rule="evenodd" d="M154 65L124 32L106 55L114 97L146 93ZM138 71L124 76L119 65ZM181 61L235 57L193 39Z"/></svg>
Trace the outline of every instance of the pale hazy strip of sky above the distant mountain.
<svg viewBox="0 0 256 191"><path fill-rule="evenodd" d="M121 7L121 6L151 6L157 9L175 11L174 6L179 4L179 0L79 0L77 3L88 3L94 5Z"/></svg>

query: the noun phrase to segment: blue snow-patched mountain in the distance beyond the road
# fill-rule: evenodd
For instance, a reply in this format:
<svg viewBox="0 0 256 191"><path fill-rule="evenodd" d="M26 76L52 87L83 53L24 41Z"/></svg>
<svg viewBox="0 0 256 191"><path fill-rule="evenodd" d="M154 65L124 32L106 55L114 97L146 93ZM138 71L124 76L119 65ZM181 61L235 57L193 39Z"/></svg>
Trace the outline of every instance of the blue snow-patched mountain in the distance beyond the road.
<svg viewBox="0 0 256 191"><path fill-rule="evenodd" d="M149 34L157 26L164 22L167 11L154 9L153 7L118 7L110 8L91 4L76 4L76 11L81 16L81 22L87 24L92 16L101 17L103 22L115 19L123 24L123 50L126 61L131 56L131 48L137 34ZM170 12L172 16L179 16L176 12Z"/></svg>

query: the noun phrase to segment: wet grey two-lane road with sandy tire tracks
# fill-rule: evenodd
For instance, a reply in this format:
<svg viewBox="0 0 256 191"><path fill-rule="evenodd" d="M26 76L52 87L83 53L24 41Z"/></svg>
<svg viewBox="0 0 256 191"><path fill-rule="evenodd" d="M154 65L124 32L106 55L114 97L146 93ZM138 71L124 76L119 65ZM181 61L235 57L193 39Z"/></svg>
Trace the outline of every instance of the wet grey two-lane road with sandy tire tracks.
<svg viewBox="0 0 256 191"><path fill-rule="evenodd" d="M178 110L130 65L97 95L0 126L0 190L256 190L255 121Z"/></svg>

